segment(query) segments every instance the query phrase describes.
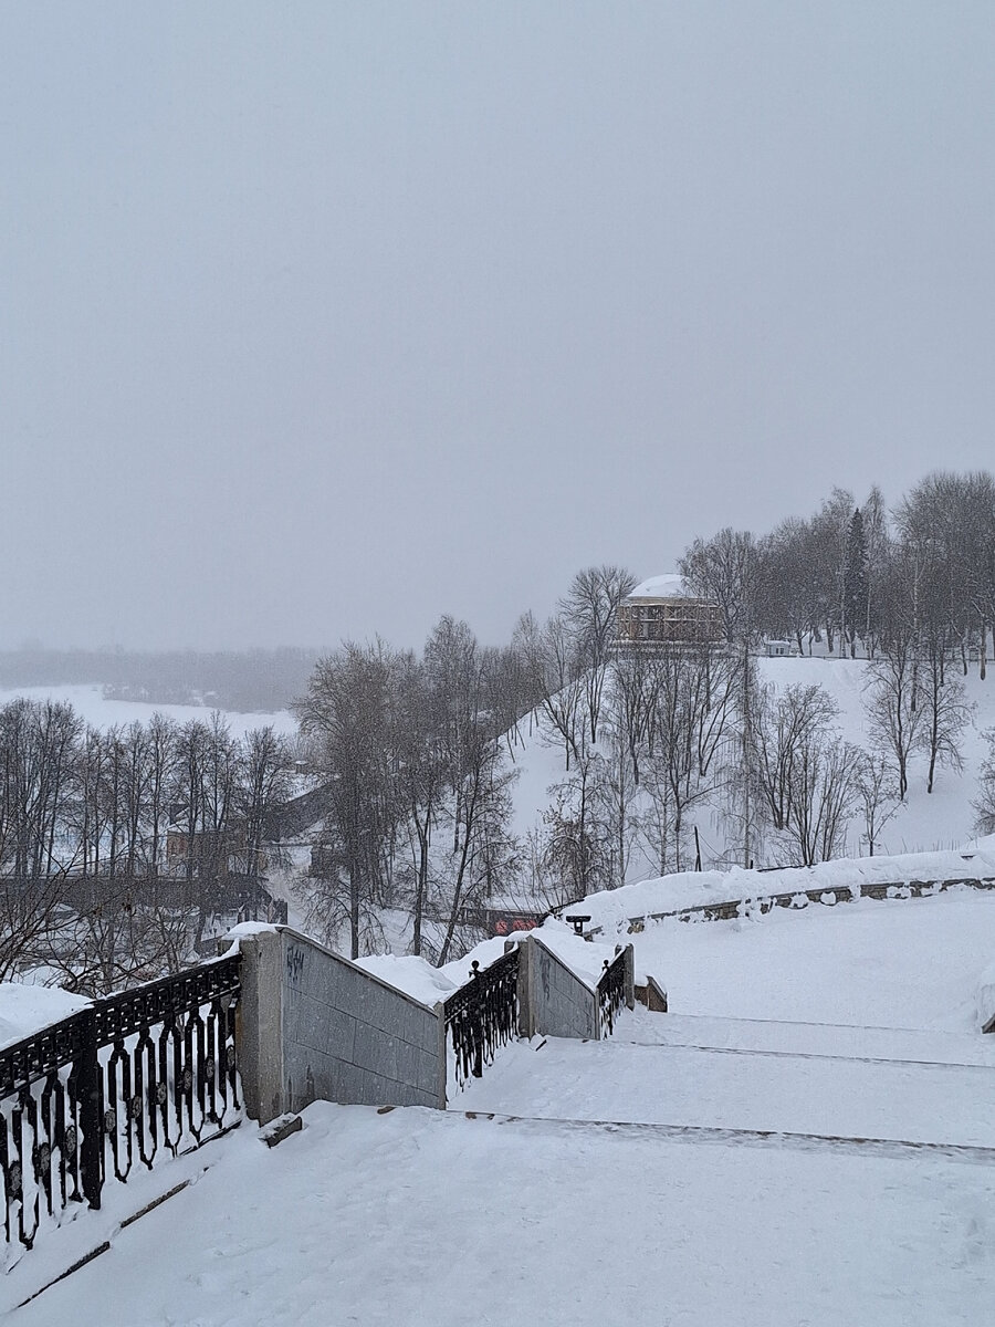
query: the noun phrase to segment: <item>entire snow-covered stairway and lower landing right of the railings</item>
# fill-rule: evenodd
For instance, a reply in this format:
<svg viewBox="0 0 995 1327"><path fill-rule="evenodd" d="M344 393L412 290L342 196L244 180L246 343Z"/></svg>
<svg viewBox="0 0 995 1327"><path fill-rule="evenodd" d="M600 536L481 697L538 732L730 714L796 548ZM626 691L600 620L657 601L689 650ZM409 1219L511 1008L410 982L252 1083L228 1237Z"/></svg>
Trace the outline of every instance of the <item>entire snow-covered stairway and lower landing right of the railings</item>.
<svg viewBox="0 0 995 1327"><path fill-rule="evenodd" d="M667 922L633 942L677 1014L507 1047L447 1113L318 1103L273 1151L245 1124L46 1231L0 1304L110 1249L9 1320L990 1322L995 1039L971 1001L995 897Z"/></svg>

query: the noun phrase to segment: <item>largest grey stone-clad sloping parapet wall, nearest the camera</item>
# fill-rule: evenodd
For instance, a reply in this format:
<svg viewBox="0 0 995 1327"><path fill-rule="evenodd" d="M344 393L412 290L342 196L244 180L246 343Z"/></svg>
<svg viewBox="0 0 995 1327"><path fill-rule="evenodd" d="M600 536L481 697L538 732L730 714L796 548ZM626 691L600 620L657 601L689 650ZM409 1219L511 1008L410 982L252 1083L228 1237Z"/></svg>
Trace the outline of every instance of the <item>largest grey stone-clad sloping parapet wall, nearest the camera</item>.
<svg viewBox="0 0 995 1327"><path fill-rule="evenodd" d="M446 1104L440 1009L287 926L235 937L245 1108L265 1124L314 1100Z"/></svg>

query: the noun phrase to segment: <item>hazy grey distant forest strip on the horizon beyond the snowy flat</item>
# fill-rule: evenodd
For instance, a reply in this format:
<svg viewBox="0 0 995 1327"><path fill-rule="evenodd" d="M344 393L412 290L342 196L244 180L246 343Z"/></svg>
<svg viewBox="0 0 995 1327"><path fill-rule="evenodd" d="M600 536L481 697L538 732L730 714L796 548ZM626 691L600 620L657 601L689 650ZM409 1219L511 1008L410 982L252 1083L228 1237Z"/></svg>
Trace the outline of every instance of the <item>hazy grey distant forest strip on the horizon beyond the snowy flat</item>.
<svg viewBox="0 0 995 1327"><path fill-rule="evenodd" d="M100 683L107 695L153 705L208 705L243 713L283 710L308 689L318 650L0 652L0 687Z"/></svg>

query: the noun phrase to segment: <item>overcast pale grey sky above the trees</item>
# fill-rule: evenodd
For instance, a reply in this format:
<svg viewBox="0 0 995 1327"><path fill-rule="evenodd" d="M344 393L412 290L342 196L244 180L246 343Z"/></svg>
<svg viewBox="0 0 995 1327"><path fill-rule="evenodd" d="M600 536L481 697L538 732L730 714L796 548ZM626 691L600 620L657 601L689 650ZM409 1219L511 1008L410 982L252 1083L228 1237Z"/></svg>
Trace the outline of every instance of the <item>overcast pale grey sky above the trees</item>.
<svg viewBox="0 0 995 1327"><path fill-rule="evenodd" d="M0 8L0 645L488 641L995 466L995 4Z"/></svg>

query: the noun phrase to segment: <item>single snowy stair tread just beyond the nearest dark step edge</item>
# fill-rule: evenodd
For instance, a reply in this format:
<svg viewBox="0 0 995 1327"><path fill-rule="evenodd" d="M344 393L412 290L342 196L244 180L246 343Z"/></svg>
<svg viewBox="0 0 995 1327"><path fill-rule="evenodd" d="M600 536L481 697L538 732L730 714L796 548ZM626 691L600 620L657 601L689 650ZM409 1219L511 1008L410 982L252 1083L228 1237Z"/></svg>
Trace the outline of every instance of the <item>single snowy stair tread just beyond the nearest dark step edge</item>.
<svg viewBox="0 0 995 1327"><path fill-rule="evenodd" d="M452 1108L995 1148L995 1070L941 1060L551 1038L508 1047Z"/></svg>

